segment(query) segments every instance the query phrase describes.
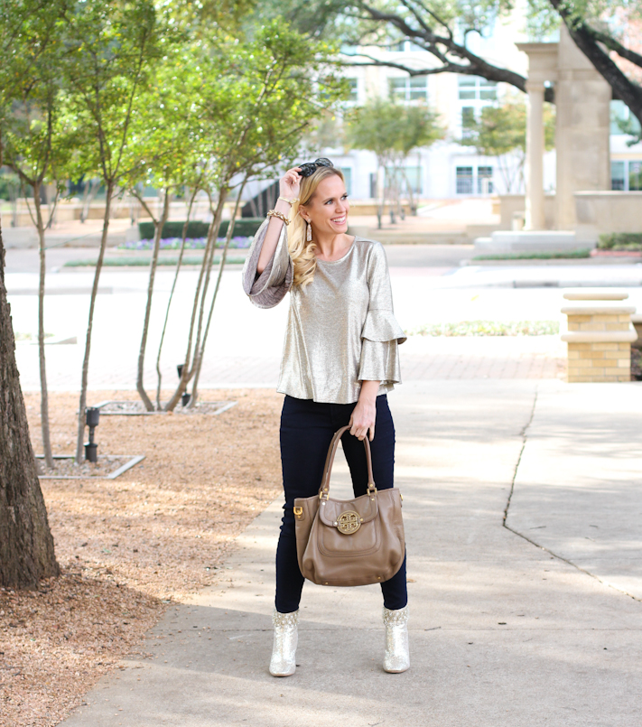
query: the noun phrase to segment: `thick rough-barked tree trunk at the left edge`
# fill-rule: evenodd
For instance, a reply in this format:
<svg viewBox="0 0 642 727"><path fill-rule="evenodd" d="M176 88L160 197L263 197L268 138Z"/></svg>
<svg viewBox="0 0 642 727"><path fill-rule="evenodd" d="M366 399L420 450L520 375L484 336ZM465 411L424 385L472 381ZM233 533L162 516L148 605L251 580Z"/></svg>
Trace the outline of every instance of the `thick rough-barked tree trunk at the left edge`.
<svg viewBox="0 0 642 727"><path fill-rule="evenodd" d="M0 586L34 588L60 574L36 473L14 329L6 300L5 247L0 228Z"/></svg>

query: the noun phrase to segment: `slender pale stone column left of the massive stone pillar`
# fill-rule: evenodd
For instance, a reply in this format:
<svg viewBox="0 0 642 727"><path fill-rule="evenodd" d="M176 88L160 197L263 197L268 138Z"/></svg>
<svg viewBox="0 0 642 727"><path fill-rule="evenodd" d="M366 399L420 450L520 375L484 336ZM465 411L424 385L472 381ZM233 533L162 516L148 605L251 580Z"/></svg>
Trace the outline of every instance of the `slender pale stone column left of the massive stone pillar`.
<svg viewBox="0 0 642 727"><path fill-rule="evenodd" d="M526 81L525 229L544 229L544 83Z"/></svg>

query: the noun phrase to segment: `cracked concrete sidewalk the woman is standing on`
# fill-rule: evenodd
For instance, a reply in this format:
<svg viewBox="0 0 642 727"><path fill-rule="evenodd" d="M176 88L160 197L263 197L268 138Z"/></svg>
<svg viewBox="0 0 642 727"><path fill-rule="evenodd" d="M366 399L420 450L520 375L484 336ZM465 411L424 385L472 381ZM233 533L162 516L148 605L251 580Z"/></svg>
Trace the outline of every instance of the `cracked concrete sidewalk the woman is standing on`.
<svg viewBox="0 0 642 727"><path fill-rule="evenodd" d="M219 585L168 611L142 648L150 656L103 679L67 727L639 722L642 387L437 381L390 399L410 671L381 669L377 586L308 583L300 666L268 675L277 501L238 539ZM345 465L336 474L345 497ZM509 499L515 532L502 524ZM607 534L599 563L578 547L578 524Z"/></svg>

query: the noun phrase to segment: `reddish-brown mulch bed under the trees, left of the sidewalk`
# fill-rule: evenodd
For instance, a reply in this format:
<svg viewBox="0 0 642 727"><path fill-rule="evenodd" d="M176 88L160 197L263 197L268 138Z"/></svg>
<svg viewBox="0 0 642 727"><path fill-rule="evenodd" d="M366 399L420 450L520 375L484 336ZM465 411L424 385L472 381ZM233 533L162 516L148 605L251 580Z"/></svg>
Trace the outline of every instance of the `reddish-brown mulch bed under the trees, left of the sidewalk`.
<svg viewBox="0 0 642 727"><path fill-rule="evenodd" d="M0 589L0 724L50 727L82 704L167 604L223 577L235 537L280 491L283 397L212 394L238 403L218 416L101 418L99 453L146 455L116 480L42 480L62 575ZM107 398L136 395L92 392L90 403ZM40 396L25 403L42 452ZM77 407L76 394L50 394L54 454L73 452Z"/></svg>

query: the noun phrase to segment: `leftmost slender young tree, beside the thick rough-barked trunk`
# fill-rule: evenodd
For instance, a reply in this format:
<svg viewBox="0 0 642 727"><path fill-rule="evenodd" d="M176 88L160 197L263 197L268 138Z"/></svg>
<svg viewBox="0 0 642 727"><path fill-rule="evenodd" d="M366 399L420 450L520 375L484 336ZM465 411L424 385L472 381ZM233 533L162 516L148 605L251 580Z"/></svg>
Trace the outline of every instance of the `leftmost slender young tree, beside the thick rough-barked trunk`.
<svg viewBox="0 0 642 727"><path fill-rule="evenodd" d="M59 168L65 163L70 145L60 128L60 82L57 74L62 51L60 14L56 2L48 12L23 18L21 33L16 37L15 53L26 60L28 69L14 75L15 82L5 86L5 113L0 124L5 126L5 163L16 173L20 186L33 190L33 210L29 212L38 233L40 253L40 284L38 289L38 349L41 382L41 428L44 459L53 467L49 429L49 403L44 350L44 278L45 228L49 227L58 195L49 210L49 219L42 212L42 188L45 182L56 182ZM22 7L14 11L19 23ZM24 62L24 61L23 61ZM59 127L59 128L57 128ZM26 194L23 193L26 199ZM27 200L28 204L28 200Z"/></svg>

